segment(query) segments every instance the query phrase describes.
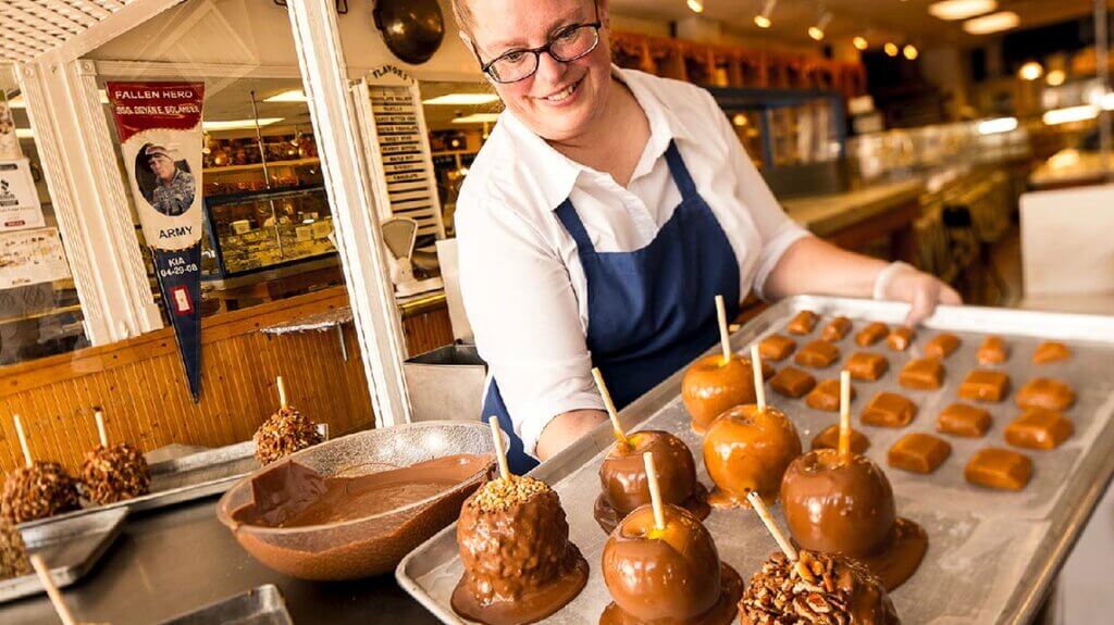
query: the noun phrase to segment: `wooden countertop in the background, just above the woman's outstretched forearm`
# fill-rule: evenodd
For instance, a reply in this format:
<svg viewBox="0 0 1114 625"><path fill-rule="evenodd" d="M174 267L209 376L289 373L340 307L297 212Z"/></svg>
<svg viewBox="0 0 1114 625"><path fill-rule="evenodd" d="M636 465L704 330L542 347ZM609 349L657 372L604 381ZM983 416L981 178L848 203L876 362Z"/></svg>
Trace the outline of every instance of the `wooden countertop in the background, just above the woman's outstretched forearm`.
<svg viewBox="0 0 1114 625"><path fill-rule="evenodd" d="M825 237L913 201L924 192L924 180L915 179L871 185L843 194L791 198L781 205L794 221Z"/></svg>

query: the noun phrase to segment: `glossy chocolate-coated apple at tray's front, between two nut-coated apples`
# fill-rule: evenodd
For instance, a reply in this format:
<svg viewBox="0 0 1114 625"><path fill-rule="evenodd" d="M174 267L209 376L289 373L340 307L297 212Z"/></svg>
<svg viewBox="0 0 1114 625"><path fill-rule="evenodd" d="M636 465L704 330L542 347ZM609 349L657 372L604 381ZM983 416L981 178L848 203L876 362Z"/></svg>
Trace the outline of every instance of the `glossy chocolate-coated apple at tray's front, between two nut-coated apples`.
<svg viewBox="0 0 1114 625"><path fill-rule="evenodd" d="M655 453L656 456L656 453ZM737 616L743 581L720 562L712 535L688 510L662 506L635 509L604 545L604 583L614 603L606 625L727 625Z"/></svg>

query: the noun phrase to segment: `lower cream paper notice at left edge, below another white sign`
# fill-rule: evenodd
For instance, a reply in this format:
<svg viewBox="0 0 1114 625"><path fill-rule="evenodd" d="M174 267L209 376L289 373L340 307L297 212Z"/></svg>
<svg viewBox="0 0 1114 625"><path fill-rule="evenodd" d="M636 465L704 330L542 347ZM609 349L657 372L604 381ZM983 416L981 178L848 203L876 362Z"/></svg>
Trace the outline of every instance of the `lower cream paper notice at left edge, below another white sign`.
<svg viewBox="0 0 1114 625"><path fill-rule="evenodd" d="M0 290L69 276L58 228L0 232Z"/></svg>

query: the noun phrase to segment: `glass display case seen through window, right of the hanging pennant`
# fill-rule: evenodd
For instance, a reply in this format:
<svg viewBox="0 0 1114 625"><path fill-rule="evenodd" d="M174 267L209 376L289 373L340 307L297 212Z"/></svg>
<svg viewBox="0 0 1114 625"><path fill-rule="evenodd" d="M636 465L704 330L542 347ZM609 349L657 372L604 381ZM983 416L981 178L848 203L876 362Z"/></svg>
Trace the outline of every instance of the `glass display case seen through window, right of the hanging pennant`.
<svg viewBox="0 0 1114 625"><path fill-rule="evenodd" d="M321 186L205 198L202 278L223 280L333 255Z"/></svg>

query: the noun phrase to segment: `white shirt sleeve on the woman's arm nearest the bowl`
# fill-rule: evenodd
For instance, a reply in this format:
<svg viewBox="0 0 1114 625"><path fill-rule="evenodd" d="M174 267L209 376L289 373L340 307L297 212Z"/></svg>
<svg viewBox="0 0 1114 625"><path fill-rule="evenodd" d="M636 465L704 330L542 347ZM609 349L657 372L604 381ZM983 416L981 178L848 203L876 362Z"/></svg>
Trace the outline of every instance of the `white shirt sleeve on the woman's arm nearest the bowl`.
<svg viewBox="0 0 1114 625"><path fill-rule="evenodd" d="M554 417L604 407L568 270L534 227L490 196L459 207L457 232L476 346L534 455Z"/></svg>

